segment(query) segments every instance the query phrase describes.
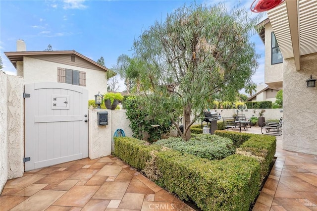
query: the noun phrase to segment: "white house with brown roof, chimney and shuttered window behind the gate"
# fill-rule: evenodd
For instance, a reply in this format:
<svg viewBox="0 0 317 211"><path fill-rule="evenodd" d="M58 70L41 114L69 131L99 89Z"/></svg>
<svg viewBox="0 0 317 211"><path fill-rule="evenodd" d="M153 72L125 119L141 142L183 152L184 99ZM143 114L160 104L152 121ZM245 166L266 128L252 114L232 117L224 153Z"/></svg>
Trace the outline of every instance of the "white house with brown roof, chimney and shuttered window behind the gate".
<svg viewBox="0 0 317 211"><path fill-rule="evenodd" d="M75 51L27 52L25 43L18 40L17 51L4 54L24 84L58 82L83 86L89 99L95 99L98 92L107 92L106 72L110 70Z"/></svg>

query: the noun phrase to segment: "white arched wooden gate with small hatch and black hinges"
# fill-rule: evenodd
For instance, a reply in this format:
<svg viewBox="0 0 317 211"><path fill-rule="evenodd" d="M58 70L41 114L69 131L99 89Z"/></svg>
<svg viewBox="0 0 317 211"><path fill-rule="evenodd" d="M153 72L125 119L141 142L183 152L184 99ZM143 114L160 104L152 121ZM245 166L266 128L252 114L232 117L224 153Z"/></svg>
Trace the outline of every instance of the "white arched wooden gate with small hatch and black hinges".
<svg viewBox="0 0 317 211"><path fill-rule="evenodd" d="M25 170L88 157L88 91L63 83L25 85Z"/></svg>

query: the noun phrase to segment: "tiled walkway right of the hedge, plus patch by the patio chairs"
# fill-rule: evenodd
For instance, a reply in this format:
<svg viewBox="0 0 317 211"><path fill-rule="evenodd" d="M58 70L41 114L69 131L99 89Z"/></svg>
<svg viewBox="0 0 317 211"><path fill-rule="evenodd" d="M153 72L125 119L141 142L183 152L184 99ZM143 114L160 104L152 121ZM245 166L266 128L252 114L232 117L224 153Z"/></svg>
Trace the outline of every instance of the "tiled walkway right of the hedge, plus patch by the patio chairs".
<svg viewBox="0 0 317 211"><path fill-rule="evenodd" d="M276 139L277 158L253 211L317 211L317 156L282 150L282 136Z"/></svg>

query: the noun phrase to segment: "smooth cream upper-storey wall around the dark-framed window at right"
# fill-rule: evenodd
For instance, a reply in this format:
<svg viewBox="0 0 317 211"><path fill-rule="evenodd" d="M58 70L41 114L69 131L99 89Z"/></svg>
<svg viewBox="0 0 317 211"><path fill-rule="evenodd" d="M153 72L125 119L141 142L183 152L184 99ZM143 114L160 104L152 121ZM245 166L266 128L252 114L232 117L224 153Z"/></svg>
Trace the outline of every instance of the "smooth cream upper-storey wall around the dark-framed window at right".
<svg viewBox="0 0 317 211"><path fill-rule="evenodd" d="M265 25L264 83L270 87L281 88L283 63L271 64L272 31L271 23L267 23Z"/></svg>

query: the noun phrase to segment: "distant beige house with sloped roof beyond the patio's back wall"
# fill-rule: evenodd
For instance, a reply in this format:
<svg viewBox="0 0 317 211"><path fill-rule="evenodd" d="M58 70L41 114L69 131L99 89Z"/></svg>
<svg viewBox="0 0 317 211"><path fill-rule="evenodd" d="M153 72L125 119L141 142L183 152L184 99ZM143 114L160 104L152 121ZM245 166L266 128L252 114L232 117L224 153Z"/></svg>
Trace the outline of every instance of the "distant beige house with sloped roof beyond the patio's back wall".
<svg viewBox="0 0 317 211"><path fill-rule="evenodd" d="M276 93L279 90L280 89L268 87L265 84L259 84L257 86L257 93L248 98L247 101L271 101L274 103L276 101Z"/></svg>

